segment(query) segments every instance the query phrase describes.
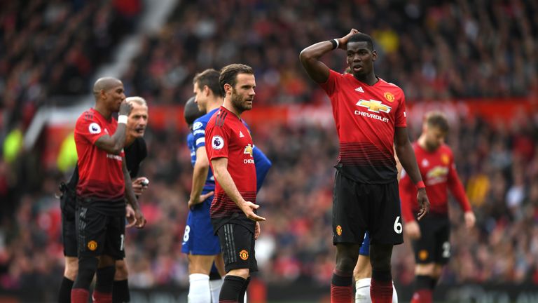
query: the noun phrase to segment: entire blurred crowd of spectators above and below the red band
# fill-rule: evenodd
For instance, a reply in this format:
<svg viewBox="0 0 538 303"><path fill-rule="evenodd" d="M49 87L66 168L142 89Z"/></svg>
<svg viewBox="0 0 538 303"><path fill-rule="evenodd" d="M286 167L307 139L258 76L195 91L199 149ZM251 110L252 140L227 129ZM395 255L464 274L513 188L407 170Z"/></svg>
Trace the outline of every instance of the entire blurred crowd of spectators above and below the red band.
<svg viewBox="0 0 538 303"><path fill-rule="evenodd" d="M33 113L50 95L86 93L92 72L107 60L113 37L118 37L112 31L118 28L112 25L118 12L104 4L12 2L0 13L0 110L9 123L31 119L32 114L24 117L26 109ZM150 108L182 105L192 95L196 72L243 62L256 72L254 111L259 105L324 104L322 91L299 67L298 53L313 41L340 37L357 27L377 41L377 74L401 86L417 112L422 99L536 95L536 3L425 2L181 1L160 34L144 38L142 53L121 79L127 95L145 97ZM344 69L341 53L331 67ZM451 208L453 257L441 283L538 284L538 117L523 113L511 123L493 125L465 112L447 114L448 144L477 222L469 234L459 208ZM411 120L413 140L420 122ZM188 283L188 262L181 253L192 176L187 132L151 127L146 132L149 157L140 175L151 185L140 203L148 224L143 230L127 230L132 286ZM259 211L268 218L257 243L261 277L271 283L328 284L334 267L335 130L260 125L253 127L253 136L273 162L258 195ZM4 143L4 134L0 138ZM44 289L62 278L55 194L57 184L69 176L44 173L39 190L28 191L21 181L35 170L27 170L17 174L22 179L13 180L11 163L0 161L0 194L2 201L11 201L11 207L1 208L4 289ZM396 247L392 260L394 281L412 283L414 259L408 244Z"/></svg>

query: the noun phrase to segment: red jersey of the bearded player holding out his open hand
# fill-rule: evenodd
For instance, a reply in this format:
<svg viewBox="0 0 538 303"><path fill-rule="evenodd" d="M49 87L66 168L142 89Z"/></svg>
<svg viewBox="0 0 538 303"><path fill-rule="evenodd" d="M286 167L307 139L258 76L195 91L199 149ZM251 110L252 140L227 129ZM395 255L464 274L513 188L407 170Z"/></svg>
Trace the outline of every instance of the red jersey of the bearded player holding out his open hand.
<svg viewBox="0 0 538 303"><path fill-rule="evenodd" d="M213 170L212 159L228 158L228 172L246 201L256 203L256 166L252 156L252 137L242 120L225 107L209 119L205 128L205 152ZM210 142L210 143L209 143ZM212 218L243 213L215 180L215 196L209 211Z"/></svg>

